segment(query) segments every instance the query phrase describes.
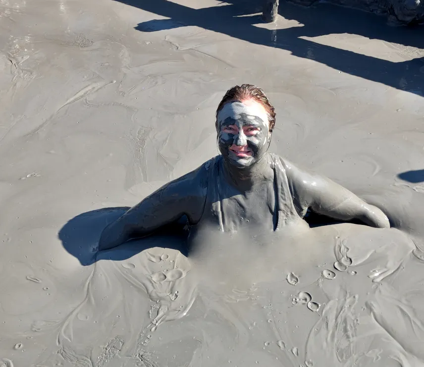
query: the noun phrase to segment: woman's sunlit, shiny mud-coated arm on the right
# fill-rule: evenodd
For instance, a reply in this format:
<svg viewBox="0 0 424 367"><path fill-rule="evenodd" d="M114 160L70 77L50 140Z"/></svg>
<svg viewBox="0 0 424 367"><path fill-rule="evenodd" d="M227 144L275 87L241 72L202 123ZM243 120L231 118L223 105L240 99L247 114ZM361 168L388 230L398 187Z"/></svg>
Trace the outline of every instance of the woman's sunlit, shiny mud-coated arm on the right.
<svg viewBox="0 0 424 367"><path fill-rule="evenodd" d="M340 220L359 219L378 228L389 228L387 216L330 179L305 172L285 161L294 199L302 208Z"/></svg>

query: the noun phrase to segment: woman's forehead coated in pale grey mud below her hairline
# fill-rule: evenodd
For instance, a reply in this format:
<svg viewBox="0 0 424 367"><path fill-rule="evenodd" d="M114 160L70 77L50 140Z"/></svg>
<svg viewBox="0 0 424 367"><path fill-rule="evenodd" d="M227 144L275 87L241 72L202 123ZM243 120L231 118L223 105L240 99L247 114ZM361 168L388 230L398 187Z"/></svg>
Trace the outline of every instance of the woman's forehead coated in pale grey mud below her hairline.
<svg viewBox="0 0 424 367"><path fill-rule="evenodd" d="M259 103L246 105L242 102L230 102L225 104L218 112L217 122L222 124L227 119L252 121L252 124L262 123L268 126L268 116L265 108ZM228 120L227 120L228 121Z"/></svg>

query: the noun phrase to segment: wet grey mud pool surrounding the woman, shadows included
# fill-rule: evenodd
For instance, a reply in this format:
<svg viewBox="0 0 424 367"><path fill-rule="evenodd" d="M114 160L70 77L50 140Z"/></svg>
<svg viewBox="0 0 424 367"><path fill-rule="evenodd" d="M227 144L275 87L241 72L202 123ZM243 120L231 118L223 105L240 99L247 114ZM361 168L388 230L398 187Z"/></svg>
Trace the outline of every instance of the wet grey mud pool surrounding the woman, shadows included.
<svg viewBox="0 0 424 367"><path fill-rule="evenodd" d="M0 1L0 366L423 366L422 38L327 5L272 27L202 6ZM187 258L176 226L96 255L217 154L215 108L246 82L276 107L270 151L394 228L211 233Z"/></svg>

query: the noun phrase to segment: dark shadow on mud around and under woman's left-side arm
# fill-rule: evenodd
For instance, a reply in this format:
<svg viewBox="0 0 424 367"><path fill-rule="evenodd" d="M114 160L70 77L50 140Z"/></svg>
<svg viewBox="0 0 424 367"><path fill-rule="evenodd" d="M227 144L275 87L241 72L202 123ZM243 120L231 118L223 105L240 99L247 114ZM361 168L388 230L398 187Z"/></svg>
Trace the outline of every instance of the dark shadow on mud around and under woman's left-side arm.
<svg viewBox="0 0 424 367"><path fill-rule="evenodd" d="M181 252L187 256L186 240L188 231L184 229L186 218L160 228L148 237L126 242L114 249L96 252L103 229L119 218L128 207L92 210L70 219L59 231L58 237L63 248L77 258L81 265L91 265L98 260L122 261L154 247L162 247Z"/></svg>

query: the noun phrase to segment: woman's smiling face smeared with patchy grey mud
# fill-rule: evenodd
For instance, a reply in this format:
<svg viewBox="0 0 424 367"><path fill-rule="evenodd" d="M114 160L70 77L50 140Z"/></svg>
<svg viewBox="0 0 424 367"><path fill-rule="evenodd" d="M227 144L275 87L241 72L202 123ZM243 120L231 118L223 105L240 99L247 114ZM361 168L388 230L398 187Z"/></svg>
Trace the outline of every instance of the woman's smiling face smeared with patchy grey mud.
<svg viewBox="0 0 424 367"><path fill-rule="evenodd" d="M231 102L217 116L218 148L224 159L243 168L264 157L271 133L265 108L257 102Z"/></svg>

